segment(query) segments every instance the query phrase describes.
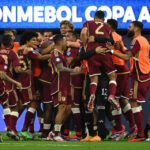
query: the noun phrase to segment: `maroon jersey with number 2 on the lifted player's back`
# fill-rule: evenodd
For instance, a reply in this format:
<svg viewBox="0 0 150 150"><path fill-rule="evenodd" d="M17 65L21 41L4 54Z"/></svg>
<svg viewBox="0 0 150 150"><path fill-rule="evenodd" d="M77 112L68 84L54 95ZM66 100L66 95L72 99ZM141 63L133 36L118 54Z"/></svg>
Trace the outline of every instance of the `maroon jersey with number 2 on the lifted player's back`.
<svg viewBox="0 0 150 150"><path fill-rule="evenodd" d="M96 21L87 21L83 24L83 27L87 27L88 36L94 36L99 38L110 38L111 37L111 28L108 24L103 22ZM93 42L87 44L87 51L95 49L98 46L105 47L105 44Z"/></svg>

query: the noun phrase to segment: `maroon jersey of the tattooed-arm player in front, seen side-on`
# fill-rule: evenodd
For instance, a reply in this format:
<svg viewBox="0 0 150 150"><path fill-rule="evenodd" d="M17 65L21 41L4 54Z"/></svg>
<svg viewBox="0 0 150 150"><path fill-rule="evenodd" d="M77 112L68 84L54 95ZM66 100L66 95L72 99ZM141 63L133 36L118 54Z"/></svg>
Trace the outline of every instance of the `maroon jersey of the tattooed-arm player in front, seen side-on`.
<svg viewBox="0 0 150 150"><path fill-rule="evenodd" d="M51 53L51 63L52 63L52 71L54 71L54 78L52 81L52 94L54 95L57 92L68 90L68 86L70 86L70 73L59 72L56 68L57 64L63 64L63 66L67 67L67 60L62 52L57 49L54 49Z"/></svg>

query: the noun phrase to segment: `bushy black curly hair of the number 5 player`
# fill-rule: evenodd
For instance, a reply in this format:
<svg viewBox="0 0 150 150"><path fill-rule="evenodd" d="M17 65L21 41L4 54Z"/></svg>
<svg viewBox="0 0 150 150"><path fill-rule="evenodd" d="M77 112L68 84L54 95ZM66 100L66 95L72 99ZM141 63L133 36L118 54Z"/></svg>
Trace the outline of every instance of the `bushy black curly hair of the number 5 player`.
<svg viewBox="0 0 150 150"><path fill-rule="evenodd" d="M21 45L26 44L33 37L38 37L38 34L36 32L33 32L33 31L26 31L26 32L24 32L23 35L21 36L20 44Z"/></svg>

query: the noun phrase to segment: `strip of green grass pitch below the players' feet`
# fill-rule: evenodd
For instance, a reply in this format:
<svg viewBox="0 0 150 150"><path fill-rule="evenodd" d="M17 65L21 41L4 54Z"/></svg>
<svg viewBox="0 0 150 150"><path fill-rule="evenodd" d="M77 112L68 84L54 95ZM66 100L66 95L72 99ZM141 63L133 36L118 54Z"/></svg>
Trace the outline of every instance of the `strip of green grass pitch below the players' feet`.
<svg viewBox="0 0 150 150"><path fill-rule="evenodd" d="M0 150L150 150L150 142L102 141L102 142L51 142L13 141L2 133Z"/></svg>

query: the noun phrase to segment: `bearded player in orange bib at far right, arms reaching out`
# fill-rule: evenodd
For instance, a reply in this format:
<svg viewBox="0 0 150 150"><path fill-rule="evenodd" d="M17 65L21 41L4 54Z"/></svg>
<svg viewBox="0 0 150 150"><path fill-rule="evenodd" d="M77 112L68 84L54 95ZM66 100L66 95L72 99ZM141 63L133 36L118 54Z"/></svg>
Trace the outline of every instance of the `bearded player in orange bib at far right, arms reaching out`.
<svg viewBox="0 0 150 150"><path fill-rule="evenodd" d="M120 43L122 48L127 50L126 54L112 50L112 46L107 44L114 56L124 60L130 59L132 78L130 100L138 134L129 141L144 140L142 103L145 102L150 87L150 62L149 42L141 35L142 29L143 24L140 21L131 22L127 33L129 37L133 37L130 49L127 50L123 43Z"/></svg>

